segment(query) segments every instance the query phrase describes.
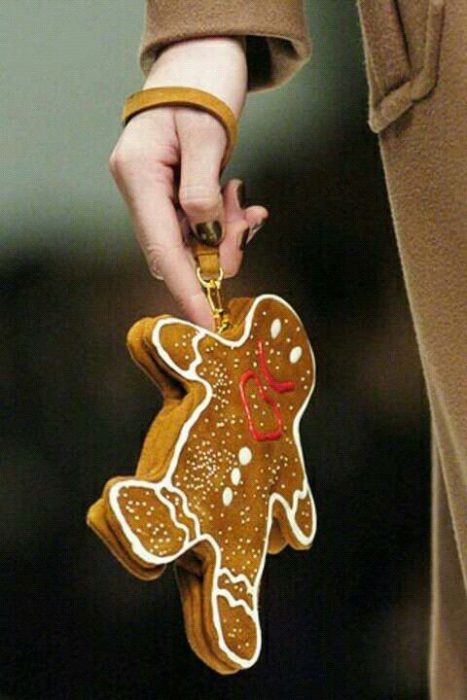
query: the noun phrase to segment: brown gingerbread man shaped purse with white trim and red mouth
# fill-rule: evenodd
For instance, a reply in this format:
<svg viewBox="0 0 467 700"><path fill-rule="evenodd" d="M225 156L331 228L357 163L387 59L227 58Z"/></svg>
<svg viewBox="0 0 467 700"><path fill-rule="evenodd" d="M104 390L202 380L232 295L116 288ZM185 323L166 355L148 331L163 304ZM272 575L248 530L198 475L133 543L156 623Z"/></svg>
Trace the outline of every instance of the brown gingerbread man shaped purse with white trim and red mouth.
<svg viewBox="0 0 467 700"><path fill-rule="evenodd" d="M188 639L220 673L258 658L268 545L305 549L316 529L299 437L315 380L306 332L276 296L234 300L230 312L224 336L171 317L130 332L164 409L136 476L107 484L98 502L105 525L90 518L133 573L156 577L180 564Z"/></svg>

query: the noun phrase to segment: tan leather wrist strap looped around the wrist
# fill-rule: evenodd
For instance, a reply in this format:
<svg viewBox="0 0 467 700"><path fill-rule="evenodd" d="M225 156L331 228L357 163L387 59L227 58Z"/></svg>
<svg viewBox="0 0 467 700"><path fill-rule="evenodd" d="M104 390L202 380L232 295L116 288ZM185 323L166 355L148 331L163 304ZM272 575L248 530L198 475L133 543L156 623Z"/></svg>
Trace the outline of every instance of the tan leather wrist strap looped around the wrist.
<svg viewBox="0 0 467 700"><path fill-rule="evenodd" d="M227 134L227 146L222 160L222 167L228 163L237 143L237 120L230 107L210 92L179 86L148 88L147 90L134 92L127 97L123 107L123 126L128 124L130 119L136 114L146 109L164 105L196 107L204 109L213 117L216 117Z"/></svg>

